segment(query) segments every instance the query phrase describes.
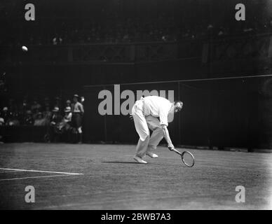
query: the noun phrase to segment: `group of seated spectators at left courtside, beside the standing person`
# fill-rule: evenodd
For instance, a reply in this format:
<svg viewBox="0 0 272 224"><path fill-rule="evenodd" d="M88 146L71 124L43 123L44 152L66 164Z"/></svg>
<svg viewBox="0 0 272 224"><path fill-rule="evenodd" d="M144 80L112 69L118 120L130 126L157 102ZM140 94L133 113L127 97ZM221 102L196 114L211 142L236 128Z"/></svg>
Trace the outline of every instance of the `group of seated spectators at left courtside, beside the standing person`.
<svg viewBox="0 0 272 224"><path fill-rule="evenodd" d="M80 101L83 102L83 97ZM76 134L72 125L73 106L74 100L62 102L60 97L55 97L53 101L44 97L41 102L36 98L32 102L23 99L18 104L9 99L1 109L0 126L48 127L48 141L57 141L60 134Z"/></svg>

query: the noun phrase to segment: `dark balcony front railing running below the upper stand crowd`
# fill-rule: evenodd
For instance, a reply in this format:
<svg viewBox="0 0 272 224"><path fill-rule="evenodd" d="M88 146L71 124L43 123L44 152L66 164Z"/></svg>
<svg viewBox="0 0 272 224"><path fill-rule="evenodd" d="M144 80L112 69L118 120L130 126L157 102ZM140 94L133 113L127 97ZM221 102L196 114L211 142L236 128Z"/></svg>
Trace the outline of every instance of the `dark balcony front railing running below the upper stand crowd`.
<svg viewBox="0 0 272 224"><path fill-rule="evenodd" d="M95 43L77 45L29 45L2 47L4 64L137 63L200 58L202 62L267 59L272 55L272 34L206 38L178 42Z"/></svg>

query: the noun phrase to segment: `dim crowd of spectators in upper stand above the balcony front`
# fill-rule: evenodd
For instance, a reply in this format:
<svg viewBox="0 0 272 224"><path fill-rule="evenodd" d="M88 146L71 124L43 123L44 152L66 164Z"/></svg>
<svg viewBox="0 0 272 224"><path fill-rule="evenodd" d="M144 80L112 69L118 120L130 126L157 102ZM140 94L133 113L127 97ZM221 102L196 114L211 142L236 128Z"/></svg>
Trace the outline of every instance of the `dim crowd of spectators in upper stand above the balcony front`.
<svg viewBox="0 0 272 224"><path fill-rule="evenodd" d="M116 19L117 20L117 19ZM183 24L175 18L160 16L154 20L127 18L125 21L111 20L105 23L86 23L83 26L70 24L69 21L57 22L57 25L46 30L43 26L31 31L18 30L18 37L3 40L8 45L62 45L88 43L132 43L149 41L182 41L197 38L220 38L224 36L241 36L272 31L272 20L266 22L245 22L242 26L215 25L208 22ZM25 36L24 33L29 35Z"/></svg>

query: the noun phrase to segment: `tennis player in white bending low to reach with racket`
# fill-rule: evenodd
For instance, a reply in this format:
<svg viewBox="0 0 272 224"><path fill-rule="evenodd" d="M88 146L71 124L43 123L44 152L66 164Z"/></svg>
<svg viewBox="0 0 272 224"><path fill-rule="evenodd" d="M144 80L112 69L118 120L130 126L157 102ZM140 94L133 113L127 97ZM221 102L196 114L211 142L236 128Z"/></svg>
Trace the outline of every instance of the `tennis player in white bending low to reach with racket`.
<svg viewBox="0 0 272 224"><path fill-rule="evenodd" d="M168 147L174 148L167 128L168 116L170 113L180 111L182 106L183 103L180 101L171 103L168 99L157 96L142 97L135 102L132 107L132 118L140 139L136 147L134 160L147 164L142 159L145 155L158 158L158 155L151 151L157 148L163 137L167 141ZM151 137L149 137L149 129L153 131Z"/></svg>

